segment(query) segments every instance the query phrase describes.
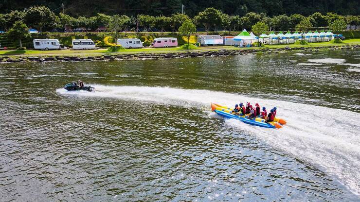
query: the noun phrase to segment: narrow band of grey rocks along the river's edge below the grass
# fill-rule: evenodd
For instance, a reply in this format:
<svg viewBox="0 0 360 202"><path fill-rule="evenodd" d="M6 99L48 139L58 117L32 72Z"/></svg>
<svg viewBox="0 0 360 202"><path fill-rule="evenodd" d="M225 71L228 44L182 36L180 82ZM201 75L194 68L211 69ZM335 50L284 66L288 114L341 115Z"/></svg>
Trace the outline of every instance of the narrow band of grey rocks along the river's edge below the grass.
<svg viewBox="0 0 360 202"><path fill-rule="evenodd" d="M131 53L116 54L109 53L97 56L0 56L0 63L25 63L25 62L79 62L79 61L112 61L112 60L146 60L146 59L164 59L164 58L188 58L188 57L214 57L242 55L249 53L262 52L265 54L273 54L285 51L319 51L320 49L340 50L340 49L358 49L360 45L346 46L326 46L326 47L298 47L298 48L278 48L278 49L239 49L239 50L209 50L209 51L183 51L174 53Z"/></svg>

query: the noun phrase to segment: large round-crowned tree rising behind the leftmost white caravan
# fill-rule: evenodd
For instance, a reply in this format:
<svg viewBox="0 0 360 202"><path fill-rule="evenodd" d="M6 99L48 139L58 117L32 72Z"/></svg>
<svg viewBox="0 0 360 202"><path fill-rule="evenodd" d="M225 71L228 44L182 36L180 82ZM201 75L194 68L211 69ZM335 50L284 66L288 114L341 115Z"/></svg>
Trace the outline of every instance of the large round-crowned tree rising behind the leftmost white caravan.
<svg viewBox="0 0 360 202"><path fill-rule="evenodd" d="M24 20L27 24L39 29L40 33L44 27L55 27L56 16L45 6L30 7L26 10Z"/></svg>

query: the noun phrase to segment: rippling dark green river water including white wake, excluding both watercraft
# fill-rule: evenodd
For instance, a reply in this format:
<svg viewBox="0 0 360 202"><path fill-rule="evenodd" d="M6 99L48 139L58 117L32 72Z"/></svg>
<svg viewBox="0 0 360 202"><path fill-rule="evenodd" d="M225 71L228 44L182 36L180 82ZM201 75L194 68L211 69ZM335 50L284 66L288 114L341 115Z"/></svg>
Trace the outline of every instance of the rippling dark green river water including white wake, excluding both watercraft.
<svg viewBox="0 0 360 202"><path fill-rule="evenodd" d="M359 50L0 64L0 84L1 202L360 200ZM240 101L288 124L210 109Z"/></svg>

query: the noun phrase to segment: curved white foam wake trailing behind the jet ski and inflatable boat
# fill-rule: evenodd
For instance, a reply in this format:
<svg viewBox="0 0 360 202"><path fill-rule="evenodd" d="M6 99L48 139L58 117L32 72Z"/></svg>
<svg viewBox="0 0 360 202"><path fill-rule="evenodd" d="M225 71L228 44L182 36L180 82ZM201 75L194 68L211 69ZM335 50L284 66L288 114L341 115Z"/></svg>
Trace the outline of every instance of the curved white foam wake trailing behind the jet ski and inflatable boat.
<svg viewBox="0 0 360 202"><path fill-rule="evenodd" d="M240 101L250 101L252 104L258 102L261 107L266 106L268 109L277 106L279 117L288 122L282 129L260 128L237 120L226 120L226 123L246 130L270 145L318 166L330 175L338 176L342 184L355 194L360 194L359 113L210 90L170 87L96 85L95 93L69 92L65 89L58 89L57 92L76 96L161 102L183 107L206 107L206 110L210 110L210 102L233 106Z"/></svg>

